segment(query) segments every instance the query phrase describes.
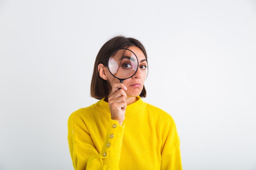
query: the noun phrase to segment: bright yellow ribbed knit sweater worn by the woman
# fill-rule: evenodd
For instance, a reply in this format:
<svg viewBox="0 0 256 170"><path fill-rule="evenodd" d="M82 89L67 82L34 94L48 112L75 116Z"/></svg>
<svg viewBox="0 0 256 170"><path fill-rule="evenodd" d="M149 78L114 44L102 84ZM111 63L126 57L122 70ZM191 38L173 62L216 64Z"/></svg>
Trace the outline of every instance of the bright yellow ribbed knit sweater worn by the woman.
<svg viewBox="0 0 256 170"><path fill-rule="evenodd" d="M182 170L173 118L140 97L126 108L123 126L101 99L72 113L68 143L75 170Z"/></svg>

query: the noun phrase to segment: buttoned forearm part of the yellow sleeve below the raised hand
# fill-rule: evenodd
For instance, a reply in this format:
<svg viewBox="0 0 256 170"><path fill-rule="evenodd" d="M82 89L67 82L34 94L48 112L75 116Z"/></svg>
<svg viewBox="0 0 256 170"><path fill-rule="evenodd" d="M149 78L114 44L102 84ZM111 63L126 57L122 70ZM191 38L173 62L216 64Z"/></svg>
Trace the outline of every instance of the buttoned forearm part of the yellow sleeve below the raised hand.
<svg viewBox="0 0 256 170"><path fill-rule="evenodd" d="M124 124L121 126L118 121L110 119L105 143L99 154L103 165L110 169L119 167L124 128Z"/></svg>

